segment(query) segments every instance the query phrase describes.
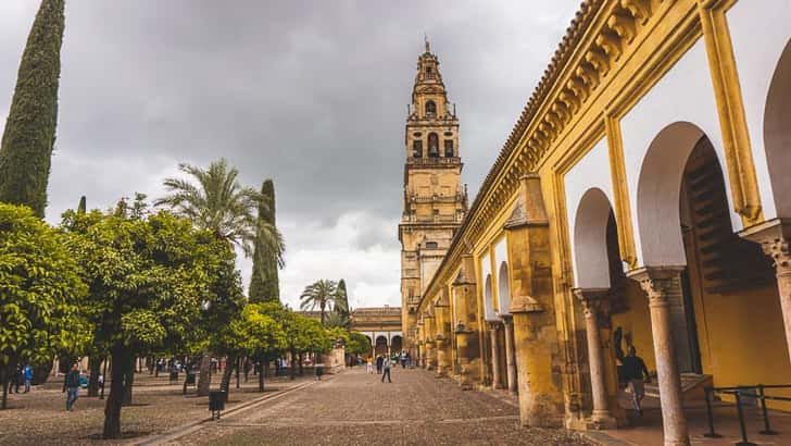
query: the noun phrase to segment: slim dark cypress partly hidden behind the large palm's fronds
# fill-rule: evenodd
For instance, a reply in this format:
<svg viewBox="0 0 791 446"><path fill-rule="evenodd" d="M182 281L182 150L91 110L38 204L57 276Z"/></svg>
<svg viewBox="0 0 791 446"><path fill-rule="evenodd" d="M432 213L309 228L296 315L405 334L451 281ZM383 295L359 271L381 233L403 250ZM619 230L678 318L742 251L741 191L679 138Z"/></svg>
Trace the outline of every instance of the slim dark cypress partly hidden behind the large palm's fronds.
<svg viewBox="0 0 791 446"><path fill-rule="evenodd" d="M266 179L261 185L261 195L264 197L264 202L261 207L259 207L259 219L276 226L275 183L272 179ZM277 273L278 267L277 259L272 256L267 256L267 253L263 251L261 244L255 243L253 271L250 277L250 289L248 292L250 301L280 301L280 286Z"/></svg>

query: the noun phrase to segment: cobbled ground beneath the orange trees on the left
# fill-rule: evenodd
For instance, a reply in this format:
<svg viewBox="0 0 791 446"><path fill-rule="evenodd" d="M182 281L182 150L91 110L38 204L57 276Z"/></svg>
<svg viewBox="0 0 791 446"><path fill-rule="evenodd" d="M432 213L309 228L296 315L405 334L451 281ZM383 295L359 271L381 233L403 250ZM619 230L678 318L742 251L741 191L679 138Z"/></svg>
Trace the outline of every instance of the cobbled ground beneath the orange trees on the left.
<svg viewBox="0 0 791 446"><path fill-rule="evenodd" d="M305 371L307 374L307 371ZM184 380L184 375L180 376ZM266 394L289 388L306 380L289 381L286 377L268 377L266 392L258 392L258 376L242 388L231 391L227 409L256 399ZM29 394L9 395L9 409L0 410L0 445L83 445L116 444L134 438L160 434L186 422L210 416L209 398L194 396L190 388L181 395L181 385L171 385L166 374L159 377L148 373L136 374L133 388L133 406L125 407L121 417L122 439L100 439L104 422L105 400L88 398L81 389L73 412L65 411L65 394L61 393L63 377L51 379L42 386L34 386ZM219 385L219 375L212 376L212 387ZM109 392L109 388L108 388Z"/></svg>

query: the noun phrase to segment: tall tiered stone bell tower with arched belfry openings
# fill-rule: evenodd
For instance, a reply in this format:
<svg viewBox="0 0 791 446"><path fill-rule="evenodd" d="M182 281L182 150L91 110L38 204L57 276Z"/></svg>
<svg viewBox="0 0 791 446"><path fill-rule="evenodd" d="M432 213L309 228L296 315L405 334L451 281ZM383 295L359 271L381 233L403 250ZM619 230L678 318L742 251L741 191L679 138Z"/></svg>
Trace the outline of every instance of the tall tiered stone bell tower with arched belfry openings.
<svg viewBox="0 0 791 446"><path fill-rule="evenodd" d="M401 315L405 348L415 358L417 303L467 212L462 186L459 120L439 72L439 60L426 41L404 132L401 241Z"/></svg>

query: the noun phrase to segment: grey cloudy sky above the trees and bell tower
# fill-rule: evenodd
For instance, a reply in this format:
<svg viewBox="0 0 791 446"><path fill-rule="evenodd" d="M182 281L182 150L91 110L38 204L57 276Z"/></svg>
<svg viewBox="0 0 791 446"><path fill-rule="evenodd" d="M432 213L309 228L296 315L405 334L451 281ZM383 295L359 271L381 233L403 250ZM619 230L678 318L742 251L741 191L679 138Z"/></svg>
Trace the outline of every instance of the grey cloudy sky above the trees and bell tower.
<svg viewBox="0 0 791 446"><path fill-rule="evenodd" d="M579 0L67 0L47 220L80 195L159 197L179 162L275 181L281 298L344 277L353 307L400 305L406 104L424 33L476 193ZM37 0L0 0L0 119ZM247 284L250 263L239 268Z"/></svg>

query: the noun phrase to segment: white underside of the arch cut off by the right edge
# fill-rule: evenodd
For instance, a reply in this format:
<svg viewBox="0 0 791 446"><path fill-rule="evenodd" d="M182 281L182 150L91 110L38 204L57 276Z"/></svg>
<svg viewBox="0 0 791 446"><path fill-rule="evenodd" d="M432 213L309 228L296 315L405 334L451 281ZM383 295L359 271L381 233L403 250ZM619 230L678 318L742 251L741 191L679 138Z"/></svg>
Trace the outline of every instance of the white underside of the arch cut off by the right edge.
<svg viewBox="0 0 791 446"><path fill-rule="evenodd" d="M764 110L764 148L777 216L791 216L791 39L769 83Z"/></svg>

